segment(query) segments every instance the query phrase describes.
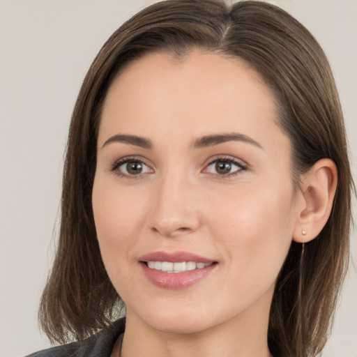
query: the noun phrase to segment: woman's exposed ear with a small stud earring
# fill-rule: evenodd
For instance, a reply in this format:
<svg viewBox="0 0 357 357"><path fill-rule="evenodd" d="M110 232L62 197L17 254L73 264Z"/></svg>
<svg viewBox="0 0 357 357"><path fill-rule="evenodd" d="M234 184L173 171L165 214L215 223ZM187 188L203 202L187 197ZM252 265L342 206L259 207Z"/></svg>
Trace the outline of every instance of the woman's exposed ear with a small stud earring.
<svg viewBox="0 0 357 357"><path fill-rule="evenodd" d="M316 238L330 216L337 187L337 167L331 159L321 159L303 174L298 218L293 240L306 243Z"/></svg>

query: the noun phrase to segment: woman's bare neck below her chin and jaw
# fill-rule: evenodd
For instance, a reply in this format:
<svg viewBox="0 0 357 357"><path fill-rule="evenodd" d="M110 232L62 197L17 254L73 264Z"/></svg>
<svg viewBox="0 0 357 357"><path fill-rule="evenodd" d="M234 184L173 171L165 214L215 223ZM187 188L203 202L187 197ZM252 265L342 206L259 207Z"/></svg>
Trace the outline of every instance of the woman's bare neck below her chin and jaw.
<svg viewBox="0 0 357 357"><path fill-rule="evenodd" d="M127 311L121 357L271 357L268 350L268 316L239 316L195 333L158 329ZM118 356L118 355L116 355Z"/></svg>

